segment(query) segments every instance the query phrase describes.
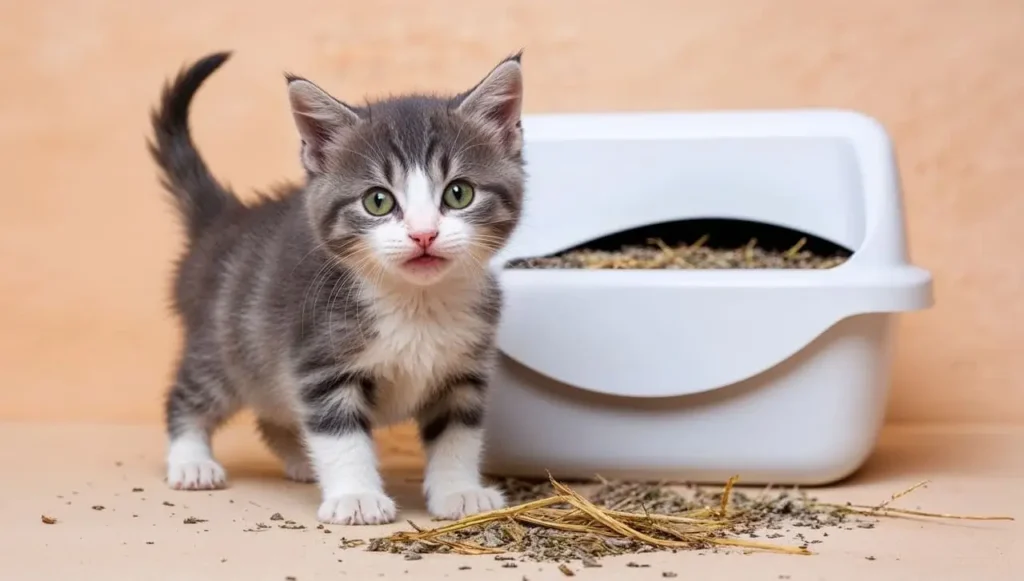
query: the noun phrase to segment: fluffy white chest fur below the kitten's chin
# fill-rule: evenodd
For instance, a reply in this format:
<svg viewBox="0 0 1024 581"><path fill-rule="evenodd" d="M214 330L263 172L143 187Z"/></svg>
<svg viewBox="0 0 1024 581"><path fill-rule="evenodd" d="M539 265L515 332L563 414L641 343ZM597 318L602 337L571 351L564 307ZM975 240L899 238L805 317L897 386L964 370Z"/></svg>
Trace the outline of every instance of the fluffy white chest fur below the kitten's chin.
<svg viewBox="0 0 1024 581"><path fill-rule="evenodd" d="M381 291L372 301L376 337L357 366L381 378L378 425L402 421L443 376L465 369L486 332L472 289Z"/></svg>

